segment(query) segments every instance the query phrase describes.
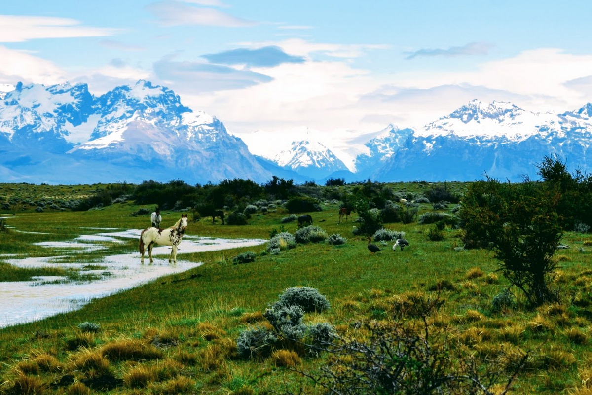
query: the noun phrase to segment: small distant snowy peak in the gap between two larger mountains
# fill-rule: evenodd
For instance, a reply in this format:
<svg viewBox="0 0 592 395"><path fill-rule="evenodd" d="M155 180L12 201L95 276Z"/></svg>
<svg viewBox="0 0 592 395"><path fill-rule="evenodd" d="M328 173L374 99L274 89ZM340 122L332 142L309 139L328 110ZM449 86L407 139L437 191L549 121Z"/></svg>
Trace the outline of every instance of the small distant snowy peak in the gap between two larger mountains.
<svg viewBox="0 0 592 395"><path fill-rule="evenodd" d="M335 171L347 170L342 160L329 148L314 141L294 141L289 150L275 156L279 167L294 170L310 179L323 179Z"/></svg>

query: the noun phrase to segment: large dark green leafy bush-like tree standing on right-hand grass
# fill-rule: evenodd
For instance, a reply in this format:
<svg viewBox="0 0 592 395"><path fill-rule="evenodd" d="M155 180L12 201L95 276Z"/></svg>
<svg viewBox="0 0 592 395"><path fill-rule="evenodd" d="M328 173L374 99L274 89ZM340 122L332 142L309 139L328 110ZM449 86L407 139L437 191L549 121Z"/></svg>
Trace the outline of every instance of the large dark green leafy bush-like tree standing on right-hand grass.
<svg viewBox="0 0 592 395"><path fill-rule="evenodd" d="M562 237L557 207L561 195L545 183L472 183L459 215L467 247L494 252L500 271L533 305L556 299L549 289L552 259Z"/></svg>

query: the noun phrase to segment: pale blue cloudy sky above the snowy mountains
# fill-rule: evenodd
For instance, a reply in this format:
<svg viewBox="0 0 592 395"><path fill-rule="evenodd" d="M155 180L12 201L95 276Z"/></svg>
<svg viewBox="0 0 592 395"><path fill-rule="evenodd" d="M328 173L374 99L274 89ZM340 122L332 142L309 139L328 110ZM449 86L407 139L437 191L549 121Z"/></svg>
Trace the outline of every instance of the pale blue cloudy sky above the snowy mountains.
<svg viewBox="0 0 592 395"><path fill-rule="evenodd" d="M0 0L0 85L139 79L254 154L313 140L346 164L392 124L472 99L592 101L589 0Z"/></svg>

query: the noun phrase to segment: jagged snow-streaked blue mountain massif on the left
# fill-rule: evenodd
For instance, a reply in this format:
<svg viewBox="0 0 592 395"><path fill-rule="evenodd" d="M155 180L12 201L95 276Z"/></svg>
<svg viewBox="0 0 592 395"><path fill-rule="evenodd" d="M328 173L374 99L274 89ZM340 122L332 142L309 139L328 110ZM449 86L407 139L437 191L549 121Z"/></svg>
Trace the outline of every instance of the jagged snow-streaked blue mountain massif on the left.
<svg viewBox="0 0 592 395"><path fill-rule="evenodd" d="M17 85L0 102L0 152L5 180L205 183L272 176L218 119L143 80L98 98L84 84Z"/></svg>

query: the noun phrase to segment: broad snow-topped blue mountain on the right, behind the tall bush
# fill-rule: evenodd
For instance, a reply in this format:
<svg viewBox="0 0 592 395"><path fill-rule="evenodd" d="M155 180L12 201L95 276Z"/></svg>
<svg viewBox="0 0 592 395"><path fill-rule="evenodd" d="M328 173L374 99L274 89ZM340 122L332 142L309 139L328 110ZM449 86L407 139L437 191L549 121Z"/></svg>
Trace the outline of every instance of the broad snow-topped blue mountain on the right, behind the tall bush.
<svg viewBox="0 0 592 395"><path fill-rule="evenodd" d="M504 102L469 102L411 135L376 180L459 180L491 177L536 179L545 156L559 156L572 170L592 166L590 103L564 114L528 112Z"/></svg>

